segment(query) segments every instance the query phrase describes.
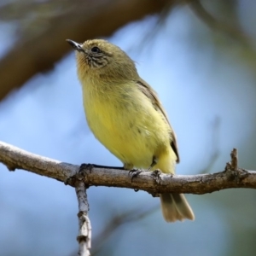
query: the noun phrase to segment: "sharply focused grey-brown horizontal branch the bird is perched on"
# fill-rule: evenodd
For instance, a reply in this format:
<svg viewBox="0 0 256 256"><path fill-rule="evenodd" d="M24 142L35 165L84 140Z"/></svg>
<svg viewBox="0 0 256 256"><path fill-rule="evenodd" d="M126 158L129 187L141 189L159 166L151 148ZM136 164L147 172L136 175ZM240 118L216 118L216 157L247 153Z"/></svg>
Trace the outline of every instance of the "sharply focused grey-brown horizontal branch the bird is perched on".
<svg viewBox="0 0 256 256"><path fill-rule="evenodd" d="M234 151L232 151L234 154ZM171 175L155 172L142 172L131 182L127 171L107 168L91 168L85 172L84 183L87 186L107 186L128 189L141 189L150 194L188 193L206 194L221 189L248 188L256 189L256 172L236 168L234 156L225 166L224 172L199 175ZM235 154L235 160L237 156ZM0 142L0 162L9 168L24 169L46 177L52 177L75 187L79 166L52 160L37 154L31 154L7 143ZM234 167L236 169L234 169ZM74 178L70 178L74 177ZM157 182L160 181L160 182Z"/></svg>

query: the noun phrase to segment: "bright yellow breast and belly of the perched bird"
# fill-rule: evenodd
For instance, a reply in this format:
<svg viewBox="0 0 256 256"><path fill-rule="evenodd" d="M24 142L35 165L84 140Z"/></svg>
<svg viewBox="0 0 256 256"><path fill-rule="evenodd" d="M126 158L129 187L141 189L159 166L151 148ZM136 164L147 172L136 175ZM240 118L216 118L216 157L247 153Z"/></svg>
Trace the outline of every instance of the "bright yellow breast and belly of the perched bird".
<svg viewBox="0 0 256 256"><path fill-rule="evenodd" d="M167 126L136 87L107 91L84 88L83 93L91 131L124 163L148 167L161 142L169 147Z"/></svg>

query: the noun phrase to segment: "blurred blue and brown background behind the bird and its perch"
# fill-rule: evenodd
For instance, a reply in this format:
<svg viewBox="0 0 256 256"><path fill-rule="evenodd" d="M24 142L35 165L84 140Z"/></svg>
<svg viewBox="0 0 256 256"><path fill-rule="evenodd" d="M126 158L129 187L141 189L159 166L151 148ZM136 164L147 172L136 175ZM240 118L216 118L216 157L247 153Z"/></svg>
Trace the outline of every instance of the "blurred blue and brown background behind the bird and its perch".
<svg viewBox="0 0 256 256"><path fill-rule="evenodd" d="M70 38L107 38L136 61L177 133L178 174L256 169L253 0L1 0L0 140L72 164L121 166L91 134ZM88 189L93 255L255 255L256 191L187 195L166 224L143 191ZM0 254L76 255L73 188L0 164Z"/></svg>

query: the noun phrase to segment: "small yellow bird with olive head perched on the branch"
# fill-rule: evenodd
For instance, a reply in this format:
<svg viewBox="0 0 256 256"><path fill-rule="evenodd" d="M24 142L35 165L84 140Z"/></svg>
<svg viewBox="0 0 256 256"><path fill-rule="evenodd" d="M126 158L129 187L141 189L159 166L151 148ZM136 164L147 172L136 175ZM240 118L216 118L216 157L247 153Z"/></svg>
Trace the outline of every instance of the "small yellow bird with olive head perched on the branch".
<svg viewBox="0 0 256 256"><path fill-rule="evenodd" d="M175 134L156 92L140 78L134 61L106 40L67 42L76 49L84 111L95 137L126 170L150 167L174 173L179 162ZM183 194L161 194L160 201L167 222L195 218Z"/></svg>

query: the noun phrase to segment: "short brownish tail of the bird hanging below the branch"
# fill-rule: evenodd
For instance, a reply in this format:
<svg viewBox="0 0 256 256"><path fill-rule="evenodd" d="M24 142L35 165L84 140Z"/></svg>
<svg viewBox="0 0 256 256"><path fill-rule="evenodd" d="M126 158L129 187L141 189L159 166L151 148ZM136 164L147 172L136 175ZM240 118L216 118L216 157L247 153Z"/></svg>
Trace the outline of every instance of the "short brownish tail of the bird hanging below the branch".
<svg viewBox="0 0 256 256"><path fill-rule="evenodd" d="M160 201L166 222L182 221L185 218L195 219L194 212L183 194L160 194Z"/></svg>

